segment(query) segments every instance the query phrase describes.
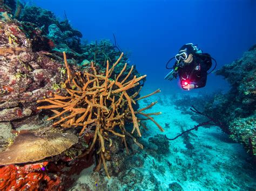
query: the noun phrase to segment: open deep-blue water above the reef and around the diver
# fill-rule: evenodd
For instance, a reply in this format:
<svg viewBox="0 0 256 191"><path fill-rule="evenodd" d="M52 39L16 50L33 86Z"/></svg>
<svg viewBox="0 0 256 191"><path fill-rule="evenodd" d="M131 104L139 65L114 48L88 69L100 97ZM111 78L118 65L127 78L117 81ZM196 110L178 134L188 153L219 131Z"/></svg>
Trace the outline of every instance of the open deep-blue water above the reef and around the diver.
<svg viewBox="0 0 256 191"><path fill-rule="evenodd" d="M59 18L64 11L70 24L90 41L110 39L113 33L147 83L166 93L184 92L177 80L164 80L166 62L186 43L198 44L217 60L217 69L241 57L256 43L254 0L73 0L30 2L51 10ZM172 66L172 63L170 63ZM222 77L211 74L207 86L196 92L227 89Z"/></svg>

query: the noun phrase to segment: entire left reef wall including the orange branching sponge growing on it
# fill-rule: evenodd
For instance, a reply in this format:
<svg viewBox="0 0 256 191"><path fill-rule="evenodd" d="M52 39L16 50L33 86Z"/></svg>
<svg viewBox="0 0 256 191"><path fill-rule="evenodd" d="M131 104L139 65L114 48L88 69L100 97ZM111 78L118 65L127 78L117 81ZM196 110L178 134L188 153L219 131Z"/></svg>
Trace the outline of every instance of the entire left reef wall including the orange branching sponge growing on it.
<svg viewBox="0 0 256 191"><path fill-rule="evenodd" d="M146 76L110 41L82 44L67 18L20 1L0 4L0 18L1 190L68 188L94 154L96 171L103 165L117 175L126 153L143 148L143 121L163 131L152 118L160 112L145 113L157 102L142 109L137 102L160 90L140 97Z"/></svg>

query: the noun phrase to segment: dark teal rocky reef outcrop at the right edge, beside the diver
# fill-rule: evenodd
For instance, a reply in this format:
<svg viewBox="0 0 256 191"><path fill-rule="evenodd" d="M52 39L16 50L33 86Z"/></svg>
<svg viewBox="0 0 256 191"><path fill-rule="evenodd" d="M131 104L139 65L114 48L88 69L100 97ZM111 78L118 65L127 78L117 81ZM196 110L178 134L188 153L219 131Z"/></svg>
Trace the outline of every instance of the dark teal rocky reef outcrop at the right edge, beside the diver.
<svg viewBox="0 0 256 191"><path fill-rule="evenodd" d="M219 119L233 140L256 155L256 46L216 74L224 76L231 89L227 94L215 95L205 112Z"/></svg>

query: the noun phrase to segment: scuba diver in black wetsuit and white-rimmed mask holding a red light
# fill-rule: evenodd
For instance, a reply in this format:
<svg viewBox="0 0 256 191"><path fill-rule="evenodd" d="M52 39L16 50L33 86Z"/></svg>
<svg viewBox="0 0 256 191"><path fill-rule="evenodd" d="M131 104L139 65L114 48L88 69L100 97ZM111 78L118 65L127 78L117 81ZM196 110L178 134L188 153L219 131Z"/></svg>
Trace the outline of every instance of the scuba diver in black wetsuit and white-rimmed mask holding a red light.
<svg viewBox="0 0 256 191"><path fill-rule="evenodd" d="M176 62L172 68L168 68L168 63L174 58ZM197 45L185 44L179 49L179 53L166 63L166 68L172 70L164 79L172 80L179 75L181 88L186 90L203 88L207 81L207 75L217 66L217 62L213 59L215 66L211 72L207 73L212 67L212 59L210 54L203 53L201 49L197 48Z"/></svg>

